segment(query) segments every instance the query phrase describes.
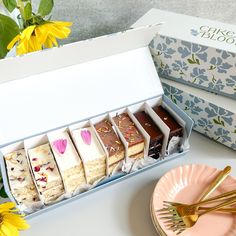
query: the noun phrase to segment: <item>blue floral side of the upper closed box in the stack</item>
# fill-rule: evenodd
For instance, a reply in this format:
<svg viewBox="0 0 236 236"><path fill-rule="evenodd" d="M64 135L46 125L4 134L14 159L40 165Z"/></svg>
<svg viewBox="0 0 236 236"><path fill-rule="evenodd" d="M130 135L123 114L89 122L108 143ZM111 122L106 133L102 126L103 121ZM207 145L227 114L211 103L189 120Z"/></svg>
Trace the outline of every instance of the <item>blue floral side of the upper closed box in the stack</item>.
<svg viewBox="0 0 236 236"><path fill-rule="evenodd" d="M194 29L190 33L198 34ZM151 42L150 49L161 76L236 99L235 53L163 35Z"/></svg>

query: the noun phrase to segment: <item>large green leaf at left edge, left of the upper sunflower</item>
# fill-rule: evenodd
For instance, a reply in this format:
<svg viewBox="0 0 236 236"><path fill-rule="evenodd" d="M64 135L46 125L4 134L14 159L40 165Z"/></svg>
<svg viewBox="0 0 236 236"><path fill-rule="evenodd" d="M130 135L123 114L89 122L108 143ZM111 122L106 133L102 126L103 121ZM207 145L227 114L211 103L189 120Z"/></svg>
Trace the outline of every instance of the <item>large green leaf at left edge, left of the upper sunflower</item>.
<svg viewBox="0 0 236 236"><path fill-rule="evenodd" d="M20 33L19 26L8 16L0 14L0 59L7 53L7 45Z"/></svg>

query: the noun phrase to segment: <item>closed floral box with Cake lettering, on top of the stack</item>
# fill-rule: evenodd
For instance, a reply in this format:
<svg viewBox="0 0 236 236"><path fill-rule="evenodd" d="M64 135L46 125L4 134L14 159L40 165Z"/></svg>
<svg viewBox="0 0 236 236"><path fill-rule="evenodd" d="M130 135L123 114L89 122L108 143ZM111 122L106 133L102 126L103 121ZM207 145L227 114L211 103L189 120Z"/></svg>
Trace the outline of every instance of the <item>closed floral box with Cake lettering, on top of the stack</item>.
<svg viewBox="0 0 236 236"><path fill-rule="evenodd" d="M151 49L166 79L236 99L236 26L152 9L133 27L165 22Z"/></svg>

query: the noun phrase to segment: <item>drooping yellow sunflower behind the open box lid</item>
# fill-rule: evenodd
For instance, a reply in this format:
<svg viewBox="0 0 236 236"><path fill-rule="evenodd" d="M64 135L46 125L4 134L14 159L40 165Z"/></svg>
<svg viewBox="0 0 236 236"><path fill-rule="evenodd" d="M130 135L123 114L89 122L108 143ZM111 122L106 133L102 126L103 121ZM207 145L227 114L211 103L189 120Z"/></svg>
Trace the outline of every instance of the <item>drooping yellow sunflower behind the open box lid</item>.
<svg viewBox="0 0 236 236"><path fill-rule="evenodd" d="M58 46L57 39L65 39L69 36L71 22L49 21L41 25L31 25L25 28L8 44L7 49L11 50L16 46L17 55L39 51L43 48Z"/></svg>

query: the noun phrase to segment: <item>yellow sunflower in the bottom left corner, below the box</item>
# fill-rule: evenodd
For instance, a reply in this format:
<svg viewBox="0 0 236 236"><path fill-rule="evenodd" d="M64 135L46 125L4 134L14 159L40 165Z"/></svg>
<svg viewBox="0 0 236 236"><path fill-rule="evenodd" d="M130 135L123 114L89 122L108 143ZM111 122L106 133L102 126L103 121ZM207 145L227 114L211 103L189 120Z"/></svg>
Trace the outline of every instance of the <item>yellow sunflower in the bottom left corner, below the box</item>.
<svg viewBox="0 0 236 236"><path fill-rule="evenodd" d="M0 236L18 236L19 230L29 228L29 225L18 213L13 202L7 202L0 205Z"/></svg>

